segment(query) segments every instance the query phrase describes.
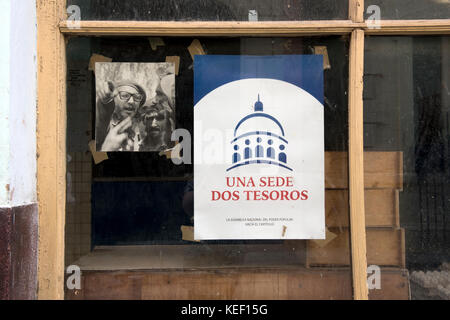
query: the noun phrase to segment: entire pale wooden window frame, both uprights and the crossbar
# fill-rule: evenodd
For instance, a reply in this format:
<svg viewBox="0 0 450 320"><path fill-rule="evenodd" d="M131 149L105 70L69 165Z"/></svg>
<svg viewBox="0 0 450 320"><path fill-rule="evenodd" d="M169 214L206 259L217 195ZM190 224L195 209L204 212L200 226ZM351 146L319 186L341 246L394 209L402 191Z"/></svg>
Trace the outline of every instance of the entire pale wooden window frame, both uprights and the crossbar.
<svg viewBox="0 0 450 320"><path fill-rule="evenodd" d="M69 28L66 1L38 1L37 168L39 201L38 298L64 299L66 202L65 37L299 36L346 34L349 57L349 203L354 299L368 299L363 163L364 36L450 34L450 19L364 21L364 0L349 0L349 19L289 22L81 21Z"/></svg>

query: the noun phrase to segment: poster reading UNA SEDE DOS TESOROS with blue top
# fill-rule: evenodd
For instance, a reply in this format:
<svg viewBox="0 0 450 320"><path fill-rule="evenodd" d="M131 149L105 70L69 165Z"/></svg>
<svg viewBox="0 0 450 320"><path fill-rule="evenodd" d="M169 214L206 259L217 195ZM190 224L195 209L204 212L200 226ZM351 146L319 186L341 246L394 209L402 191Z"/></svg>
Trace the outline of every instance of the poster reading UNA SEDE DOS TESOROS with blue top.
<svg viewBox="0 0 450 320"><path fill-rule="evenodd" d="M324 239L322 56L196 56L197 240Z"/></svg>

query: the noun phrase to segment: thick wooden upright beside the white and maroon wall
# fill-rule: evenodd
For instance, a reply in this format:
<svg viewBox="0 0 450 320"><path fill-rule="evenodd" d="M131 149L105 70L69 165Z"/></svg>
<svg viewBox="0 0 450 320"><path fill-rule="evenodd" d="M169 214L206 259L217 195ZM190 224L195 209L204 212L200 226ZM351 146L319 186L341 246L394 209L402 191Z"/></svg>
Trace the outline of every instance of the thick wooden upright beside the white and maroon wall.
<svg viewBox="0 0 450 320"><path fill-rule="evenodd" d="M64 298L66 202L65 42L58 23L66 3L37 1L39 202L38 299Z"/></svg>

